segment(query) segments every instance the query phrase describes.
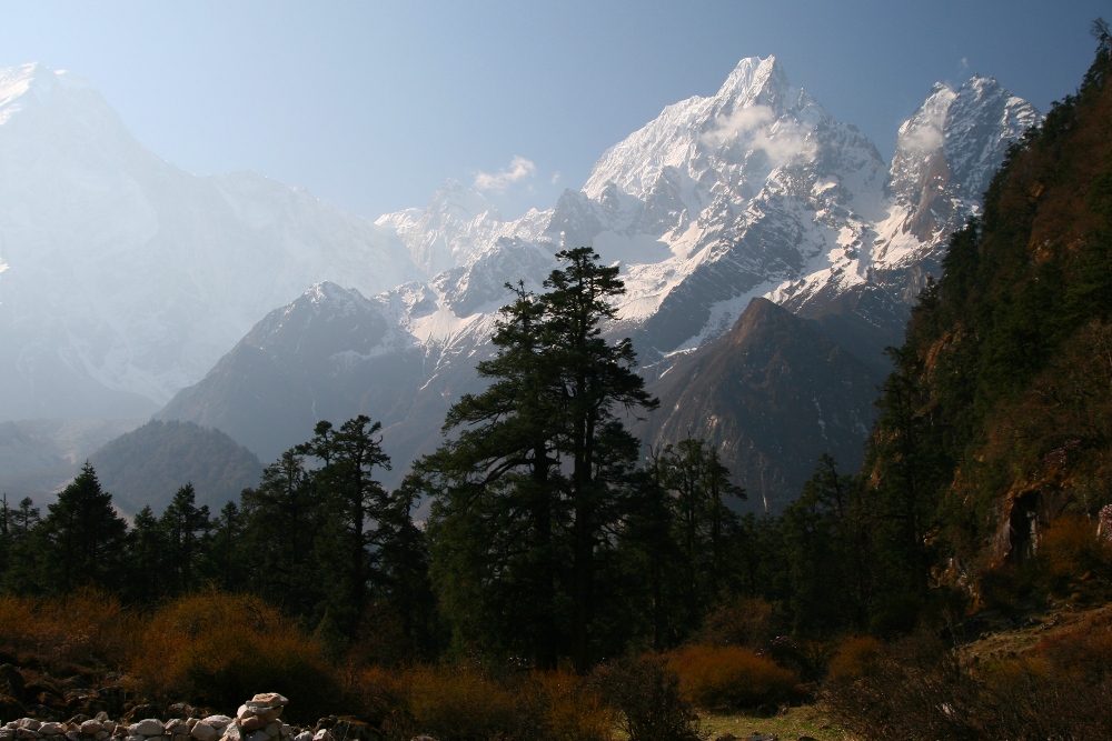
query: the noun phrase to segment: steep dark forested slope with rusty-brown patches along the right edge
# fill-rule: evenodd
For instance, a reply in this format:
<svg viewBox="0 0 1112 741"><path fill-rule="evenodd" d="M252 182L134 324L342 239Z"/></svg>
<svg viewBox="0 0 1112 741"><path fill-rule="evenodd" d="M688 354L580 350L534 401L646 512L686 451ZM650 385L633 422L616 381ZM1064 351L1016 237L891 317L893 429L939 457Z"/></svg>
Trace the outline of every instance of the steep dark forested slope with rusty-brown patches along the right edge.
<svg viewBox="0 0 1112 741"><path fill-rule="evenodd" d="M1112 63L1014 147L885 383L864 473L974 587L1112 503ZM916 534L917 533L917 534Z"/></svg>

